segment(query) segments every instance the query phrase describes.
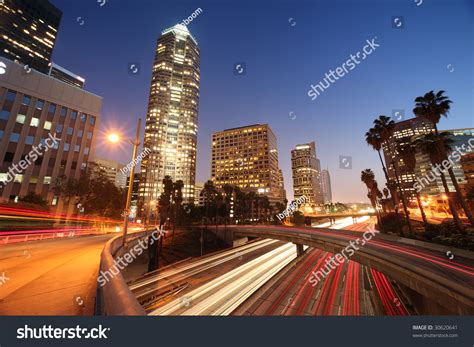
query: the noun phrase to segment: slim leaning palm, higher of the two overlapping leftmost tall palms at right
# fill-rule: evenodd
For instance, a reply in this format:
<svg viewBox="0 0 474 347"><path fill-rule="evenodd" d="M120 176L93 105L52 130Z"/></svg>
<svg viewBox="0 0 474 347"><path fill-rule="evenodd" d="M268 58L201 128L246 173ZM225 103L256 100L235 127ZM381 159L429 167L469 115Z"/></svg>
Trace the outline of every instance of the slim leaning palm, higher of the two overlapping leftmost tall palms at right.
<svg viewBox="0 0 474 347"><path fill-rule="evenodd" d="M390 119L390 117L380 115L379 118L374 120L374 129L379 134L382 143L386 145L390 156L393 158L394 148L391 141L391 136L395 129L395 122L392 119ZM410 230L410 232L413 232L413 226L411 224L410 214L408 212L407 200L406 200L405 195L403 194L402 185L400 183L400 174L398 170L397 160L392 160L392 166L393 166L393 172L395 173L395 182L400 192L400 198L402 200L403 211L405 212L408 229Z"/></svg>

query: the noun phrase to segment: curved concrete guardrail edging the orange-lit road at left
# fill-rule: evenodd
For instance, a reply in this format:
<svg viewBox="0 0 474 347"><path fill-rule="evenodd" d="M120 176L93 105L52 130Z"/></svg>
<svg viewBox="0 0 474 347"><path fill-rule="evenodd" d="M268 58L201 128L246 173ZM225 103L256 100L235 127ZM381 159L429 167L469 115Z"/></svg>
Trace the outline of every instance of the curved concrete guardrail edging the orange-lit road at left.
<svg viewBox="0 0 474 347"><path fill-rule="evenodd" d="M128 249L132 248L133 245L136 244L136 241L147 238L151 235L153 230L155 229L129 234L126 247ZM115 266L115 256L121 251L124 251L124 249L122 249L121 235L114 237L105 244L100 256L99 274L101 271L108 271ZM97 286L95 313L96 315L103 316L146 315L145 310L130 291L121 272L111 277L105 285Z"/></svg>

